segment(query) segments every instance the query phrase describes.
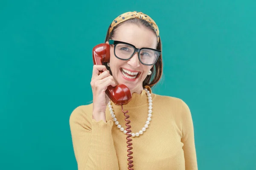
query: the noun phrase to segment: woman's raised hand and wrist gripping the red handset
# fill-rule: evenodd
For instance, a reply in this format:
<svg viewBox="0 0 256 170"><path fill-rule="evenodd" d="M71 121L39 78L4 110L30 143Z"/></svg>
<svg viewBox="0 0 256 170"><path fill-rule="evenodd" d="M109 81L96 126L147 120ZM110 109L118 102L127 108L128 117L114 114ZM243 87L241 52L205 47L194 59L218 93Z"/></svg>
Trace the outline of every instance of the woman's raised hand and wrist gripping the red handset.
<svg viewBox="0 0 256 170"><path fill-rule="evenodd" d="M103 71L99 74L99 71ZM93 75L90 82L93 91L93 119L97 122L106 122L105 111L110 99L105 91L109 85L116 86L113 76L109 73L105 65L93 65Z"/></svg>

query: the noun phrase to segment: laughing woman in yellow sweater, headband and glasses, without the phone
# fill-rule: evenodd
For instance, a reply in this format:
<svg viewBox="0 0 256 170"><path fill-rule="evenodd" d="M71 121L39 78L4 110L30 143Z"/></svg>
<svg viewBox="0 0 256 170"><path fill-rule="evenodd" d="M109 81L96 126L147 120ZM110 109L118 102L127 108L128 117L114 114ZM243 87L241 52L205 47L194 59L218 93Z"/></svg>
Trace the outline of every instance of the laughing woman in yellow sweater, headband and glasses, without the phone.
<svg viewBox="0 0 256 170"><path fill-rule="evenodd" d="M181 99L151 92L163 68L154 20L136 11L119 15L105 43L110 44L111 57L105 65L93 66L93 103L79 106L70 116L79 170L127 170L128 164L134 170L197 170L188 106ZM105 94L109 85L118 84L132 94L123 106L131 121L132 159L127 157L129 134L121 106Z"/></svg>

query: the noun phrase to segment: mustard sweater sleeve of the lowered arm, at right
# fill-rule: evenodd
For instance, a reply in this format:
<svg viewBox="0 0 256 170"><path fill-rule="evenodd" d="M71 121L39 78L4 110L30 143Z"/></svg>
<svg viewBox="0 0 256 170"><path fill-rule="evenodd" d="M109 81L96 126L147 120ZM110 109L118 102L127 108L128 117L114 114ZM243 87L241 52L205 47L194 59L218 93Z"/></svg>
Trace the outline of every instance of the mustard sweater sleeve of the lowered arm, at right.
<svg viewBox="0 0 256 170"><path fill-rule="evenodd" d="M189 107L182 102L181 128L186 170L198 170L192 116Z"/></svg>

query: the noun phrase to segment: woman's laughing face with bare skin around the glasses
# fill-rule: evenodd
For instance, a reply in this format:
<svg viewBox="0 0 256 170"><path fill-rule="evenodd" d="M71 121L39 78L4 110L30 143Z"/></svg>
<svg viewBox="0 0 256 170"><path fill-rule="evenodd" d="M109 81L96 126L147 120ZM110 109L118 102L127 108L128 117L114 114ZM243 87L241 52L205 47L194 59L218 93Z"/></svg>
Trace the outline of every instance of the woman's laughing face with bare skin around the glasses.
<svg viewBox="0 0 256 170"><path fill-rule="evenodd" d="M137 26L131 23L122 24L116 30L113 40L128 42L136 48L147 47L156 49L157 47L157 36L153 31L144 26ZM137 52L129 60L118 59L114 55L114 45L110 46L110 68L113 78L118 84L126 85L131 93L141 93L143 90L143 80L148 76L148 72L152 67L140 63ZM134 74L137 75L134 76Z"/></svg>

